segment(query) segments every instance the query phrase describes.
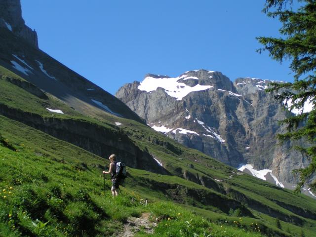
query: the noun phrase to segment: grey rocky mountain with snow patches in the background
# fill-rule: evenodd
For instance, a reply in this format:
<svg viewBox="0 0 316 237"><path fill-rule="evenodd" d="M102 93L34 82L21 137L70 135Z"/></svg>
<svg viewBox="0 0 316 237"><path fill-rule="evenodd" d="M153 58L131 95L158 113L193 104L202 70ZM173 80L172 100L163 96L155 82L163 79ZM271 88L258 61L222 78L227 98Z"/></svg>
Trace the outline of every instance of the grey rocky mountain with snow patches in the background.
<svg viewBox="0 0 316 237"><path fill-rule="evenodd" d="M147 75L122 86L116 96L174 140L234 167L270 169L278 181L266 175L268 181L293 189L298 180L291 171L308 160L290 149L295 144L278 144L276 134L285 132L278 121L291 113L264 91L270 82L233 83L220 72L197 70L177 78Z"/></svg>

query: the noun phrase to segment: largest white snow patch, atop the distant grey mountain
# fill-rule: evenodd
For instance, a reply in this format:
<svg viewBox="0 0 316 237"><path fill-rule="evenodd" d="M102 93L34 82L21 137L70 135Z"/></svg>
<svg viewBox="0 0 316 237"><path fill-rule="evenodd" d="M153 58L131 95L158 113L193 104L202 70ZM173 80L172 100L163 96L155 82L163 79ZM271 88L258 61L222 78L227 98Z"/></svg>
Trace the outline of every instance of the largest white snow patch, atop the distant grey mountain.
<svg viewBox="0 0 316 237"><path fill-rule="evenodd" d="M183 97L190 92L202 91L214 86L197 84L193 87L186 85L185 83L178 82L179 79L188 78L186 76L180 76L177 78L145 78L138 86L139 90L151 92L157 90L158 87L163 88L168 95L175 97L177 100L182 100Z"/></svg>

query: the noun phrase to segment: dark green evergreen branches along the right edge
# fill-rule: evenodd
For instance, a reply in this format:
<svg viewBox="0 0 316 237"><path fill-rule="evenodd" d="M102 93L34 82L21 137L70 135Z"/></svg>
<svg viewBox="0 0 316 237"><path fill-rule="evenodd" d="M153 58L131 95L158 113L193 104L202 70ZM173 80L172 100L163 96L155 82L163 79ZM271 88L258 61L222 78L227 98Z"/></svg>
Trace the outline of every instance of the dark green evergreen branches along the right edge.
<svg viewBox="0 0 316 237"><path fill-rule="evenodd" d="M290 60L290 69L294 73L293 83L274 82L267 91L273 92L279 101L289 102L290 111L300 111L281 121L281 124L287 124L288 131L278 135L280 141L307 138L310 143L306 147L296 147L311 161L306 168L294 170L300 176L297 192L316 171L316 1L298 0L298 3L300 7L293 10L293 0L267 0L263 12L279 19L282 23L279 32L284 37L257 38L264 45L257 50L259 53L267 50L280 63L284 59ZM313 105L312 111L304 111L306 103ZM316 182L311 188L316 189Z"/></svg>

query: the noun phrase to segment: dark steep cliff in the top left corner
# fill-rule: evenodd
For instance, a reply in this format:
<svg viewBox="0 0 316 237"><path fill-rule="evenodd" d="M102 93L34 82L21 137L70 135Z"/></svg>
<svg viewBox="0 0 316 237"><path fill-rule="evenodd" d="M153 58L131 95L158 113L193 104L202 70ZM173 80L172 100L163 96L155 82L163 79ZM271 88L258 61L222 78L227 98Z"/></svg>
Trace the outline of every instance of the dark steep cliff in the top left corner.
<svg viewBox="0 0 316 237"><path fill-rule="evenodd" d="M0 27L8 29L34 47L39 47L36 31L26 26L22 18L20 0L0 0Z"/></svg>

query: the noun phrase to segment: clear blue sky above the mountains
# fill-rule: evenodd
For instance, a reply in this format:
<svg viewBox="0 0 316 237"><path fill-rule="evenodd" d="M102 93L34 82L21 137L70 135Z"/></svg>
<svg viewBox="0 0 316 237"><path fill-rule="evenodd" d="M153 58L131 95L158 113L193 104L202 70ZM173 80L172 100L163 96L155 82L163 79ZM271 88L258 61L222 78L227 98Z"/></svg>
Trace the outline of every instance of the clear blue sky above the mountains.
<svg viewBox="0 0 316 237"><path fill-rule="evenodd" d="M292 81L288 63L259 54L255 37L279 36L265 0L21 0L44 52L115 94L147 73L220 71Z"/></svg>

